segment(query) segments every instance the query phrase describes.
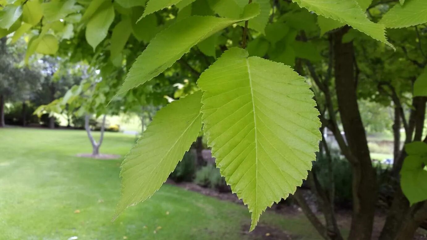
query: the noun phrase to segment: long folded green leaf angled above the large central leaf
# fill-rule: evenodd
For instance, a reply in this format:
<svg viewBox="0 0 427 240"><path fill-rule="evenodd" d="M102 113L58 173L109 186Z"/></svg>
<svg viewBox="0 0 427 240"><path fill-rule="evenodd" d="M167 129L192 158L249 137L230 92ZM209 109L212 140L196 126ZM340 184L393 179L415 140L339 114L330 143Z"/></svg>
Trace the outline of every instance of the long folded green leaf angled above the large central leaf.
<svg viewBox="0 0 427 240"><path fill-rule="evenodd" d="M251 3L240 19L190 16L173 23L158 33L136 59L117 94L123 94L158 76L200 41L233 23L253 18L257 14L259 14L258 4Z"/></svg>

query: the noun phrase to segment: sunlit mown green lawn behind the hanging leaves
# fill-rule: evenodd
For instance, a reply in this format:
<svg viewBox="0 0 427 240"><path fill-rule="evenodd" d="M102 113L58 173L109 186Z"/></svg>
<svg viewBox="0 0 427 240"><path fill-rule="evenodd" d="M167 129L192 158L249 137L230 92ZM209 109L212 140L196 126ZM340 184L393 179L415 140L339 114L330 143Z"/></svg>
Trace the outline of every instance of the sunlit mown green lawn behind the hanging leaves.
<svg viewBox="0 0 427 240"><path fill-rule="evenodd" d="M106 133L101 152L124 155L134 142L134 136ZM120 196L121 159L75 157L88 152L84 131L0 129L0 239L254 238L244 234L250 223L245 206L167 184L111 223ZM301 215L268 211L260 225L298 239L319 239Z"/></svg>

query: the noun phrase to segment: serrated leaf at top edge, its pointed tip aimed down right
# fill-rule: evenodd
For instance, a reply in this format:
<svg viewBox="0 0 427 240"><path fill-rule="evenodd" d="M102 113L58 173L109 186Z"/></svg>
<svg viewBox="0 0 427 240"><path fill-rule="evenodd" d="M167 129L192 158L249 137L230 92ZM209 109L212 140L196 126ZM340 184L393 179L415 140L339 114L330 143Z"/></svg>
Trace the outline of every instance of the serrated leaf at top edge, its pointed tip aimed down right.
<svg viewBox="0 0 427 240"><path fill-rule="evenodd" d="M354 29L364 32L366 35L381 41L390 47L385 35L384 26L369 21L365 12L356 0L292 0L299 6L313 11L326 18L348 24ZM394 48L394 47L393 47Z"/></svg>

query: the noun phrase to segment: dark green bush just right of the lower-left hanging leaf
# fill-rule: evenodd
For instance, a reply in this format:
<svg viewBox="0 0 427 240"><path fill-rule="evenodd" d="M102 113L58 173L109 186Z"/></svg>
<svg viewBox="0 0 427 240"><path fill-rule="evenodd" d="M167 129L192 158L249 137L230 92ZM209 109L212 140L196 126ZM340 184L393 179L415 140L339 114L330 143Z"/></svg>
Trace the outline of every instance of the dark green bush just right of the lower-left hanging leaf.
<svg viewBox="0 0 427 240"><path fill-rule="evenodd" d="M175 182L192 181L196 171L195 158L190 152L185 152L182 160L176 165L169 178Z"/></svg>

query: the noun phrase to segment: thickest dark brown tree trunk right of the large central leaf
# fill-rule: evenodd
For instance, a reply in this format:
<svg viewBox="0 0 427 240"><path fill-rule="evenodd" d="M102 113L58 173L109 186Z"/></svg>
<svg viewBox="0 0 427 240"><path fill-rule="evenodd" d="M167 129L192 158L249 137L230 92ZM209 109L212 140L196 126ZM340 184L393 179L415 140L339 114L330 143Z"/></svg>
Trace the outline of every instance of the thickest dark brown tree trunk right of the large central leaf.
<svg viewBox="0 0 427 240"><path fill-rule="evenodd" d="M356 160L352 163L353 213L348 239L370 240L377 199L376 176L357 105L353 42L342 43L342 36L348 29L348 27L339 29L333 35L335 85L339 114L348 147Z"/></svg>

